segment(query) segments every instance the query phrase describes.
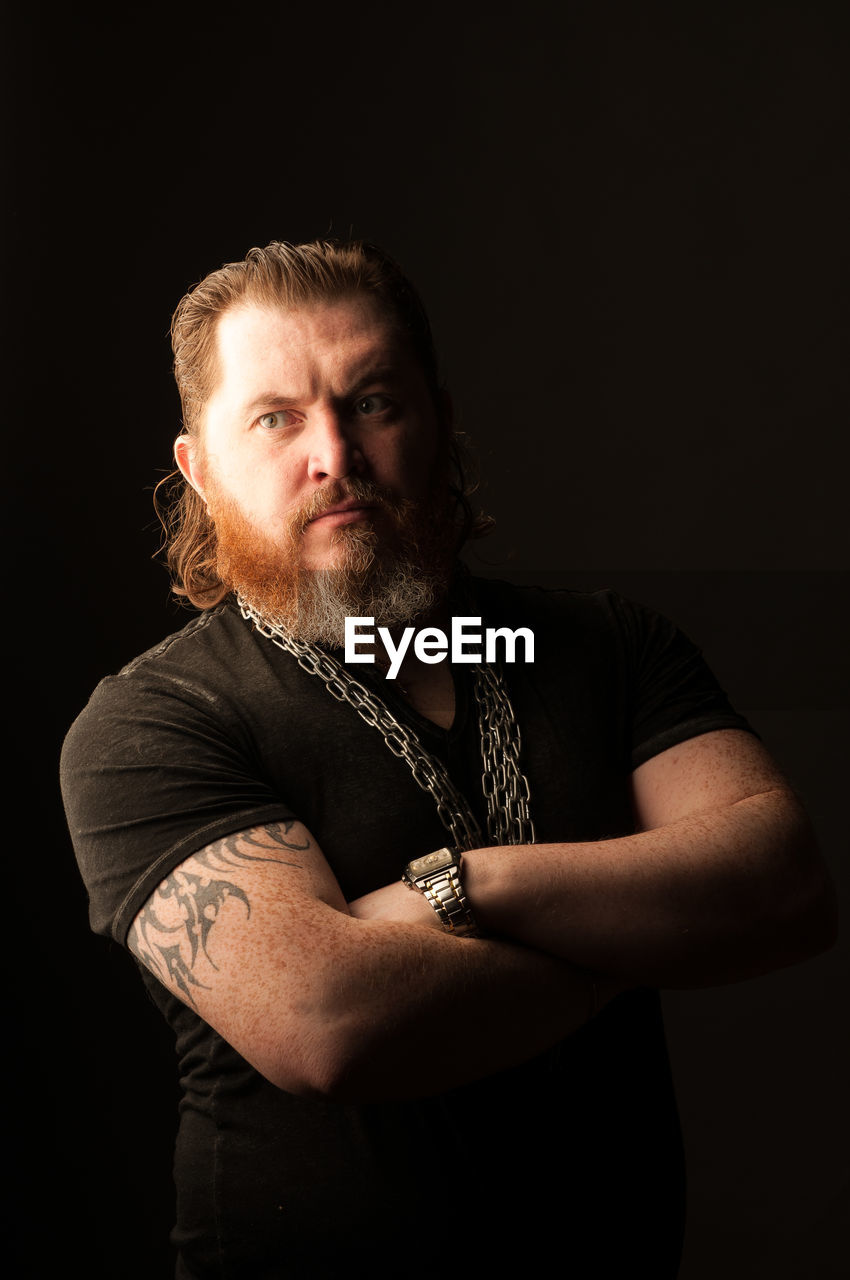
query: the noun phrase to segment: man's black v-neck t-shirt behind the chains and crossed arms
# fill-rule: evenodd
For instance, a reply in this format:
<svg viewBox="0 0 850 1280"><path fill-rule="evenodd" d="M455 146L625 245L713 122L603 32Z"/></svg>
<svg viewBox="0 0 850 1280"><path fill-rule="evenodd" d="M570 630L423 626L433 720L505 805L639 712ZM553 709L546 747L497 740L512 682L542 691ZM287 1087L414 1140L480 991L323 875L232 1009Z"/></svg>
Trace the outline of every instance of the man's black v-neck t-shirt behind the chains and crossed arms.
<svg viewBox="0 0 850 1280"><path fill-rule="evenodd" d="M613 593L471 590L462 612L483 628L535 635L534 663L503 676L538 841L627 835L632 769L748 728L690 641ZM442 759L485 831L469 667L453 667L448 731L378 668L352 675ZM165 876L248 827L303 822L349 900L447 840L380 732L230 604L99 685L68 735L63 791L92 928L122 943ZM565 1275L676 1274L681 1149L657 993L621 996L521 1068L357 1107L274 1088L141 972L175 1032L183 1087L178 1275L430 1276L466 1261L534 1268L552 1248Z"/></svg>

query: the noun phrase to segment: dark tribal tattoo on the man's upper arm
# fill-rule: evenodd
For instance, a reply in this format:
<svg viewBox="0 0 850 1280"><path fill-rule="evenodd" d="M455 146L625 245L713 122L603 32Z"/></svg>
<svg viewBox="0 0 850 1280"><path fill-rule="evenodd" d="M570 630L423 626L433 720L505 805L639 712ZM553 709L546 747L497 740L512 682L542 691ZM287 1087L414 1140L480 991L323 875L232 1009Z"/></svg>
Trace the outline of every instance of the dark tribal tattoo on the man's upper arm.
<svg viewBox="0 0 850 1280"><path fill-rule="evenodd" d="M287 838L294 826L294 820L275 822L268 827L257 827L218 840L189 859L192 864L205 868L209 874L183 868L172 872L136 918L128 938L133 955L161 980L170 978L183 996L195 1005L189 988L209 989L193 972L198 955L204 955L212 969L218 968L207 951L207 940L221 908L228 899L234 899L245 906L246 916L251 915L251 902L245 890L233 879L216 879L215 873L230 867L239 868L246 863L277 863L279 867L294 867L302 870L301 863L270 856L284 850L297 852L310 849L309 840L298 844ZM155 934L174 934L175 941L168 945L164 937L160 941Z"/></svg>

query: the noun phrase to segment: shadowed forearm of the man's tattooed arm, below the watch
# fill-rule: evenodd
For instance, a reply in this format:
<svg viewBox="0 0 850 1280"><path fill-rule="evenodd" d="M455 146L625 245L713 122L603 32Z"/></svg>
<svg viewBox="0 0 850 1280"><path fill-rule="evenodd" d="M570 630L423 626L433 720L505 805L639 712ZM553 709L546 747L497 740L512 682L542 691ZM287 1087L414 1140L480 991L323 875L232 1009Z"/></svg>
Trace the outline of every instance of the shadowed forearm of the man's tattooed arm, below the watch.
<svg viewBox="0 0 850 1280"><path fill-rule="evenodd" d="M426 908L430 911L430 908ZM320 1092L341 1101L439 1092L533 1057L582 1025L590 977L524 946L357 922L356 964L325 986Z"/></svg>

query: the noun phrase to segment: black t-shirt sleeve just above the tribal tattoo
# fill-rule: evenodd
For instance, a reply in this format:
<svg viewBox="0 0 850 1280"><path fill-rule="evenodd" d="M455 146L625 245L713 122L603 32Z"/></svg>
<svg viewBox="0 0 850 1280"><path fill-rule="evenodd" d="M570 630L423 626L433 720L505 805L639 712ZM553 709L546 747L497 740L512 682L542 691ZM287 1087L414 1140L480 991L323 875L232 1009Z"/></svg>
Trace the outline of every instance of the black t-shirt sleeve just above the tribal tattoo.
<svg viewBox="0 0 850 1280"><path fill-rule="evenodd" d="M91 927L120 943L191 854L294 817L232 716L204 690L143 672L97 686L65 739L60 780Z"/></svg>

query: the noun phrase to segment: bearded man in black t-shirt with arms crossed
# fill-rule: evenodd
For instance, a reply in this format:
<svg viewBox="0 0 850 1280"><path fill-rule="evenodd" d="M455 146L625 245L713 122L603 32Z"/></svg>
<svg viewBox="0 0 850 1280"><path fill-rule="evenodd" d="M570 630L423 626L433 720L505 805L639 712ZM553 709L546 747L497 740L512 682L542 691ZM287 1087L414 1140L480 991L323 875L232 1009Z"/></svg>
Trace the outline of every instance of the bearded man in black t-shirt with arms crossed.
<svg viewBox="0 0 850 1280"><path fill-rule="evenodd" d="M384 253L252 250L173 339L201 613L99 686L63 785L92 927L177 1036L178 1275L675 1276L657 988L830 943L795 796L664 620L457 563L480 521ZM449 662L461 618L497 659Z"/></svg>

